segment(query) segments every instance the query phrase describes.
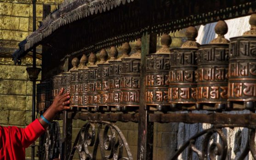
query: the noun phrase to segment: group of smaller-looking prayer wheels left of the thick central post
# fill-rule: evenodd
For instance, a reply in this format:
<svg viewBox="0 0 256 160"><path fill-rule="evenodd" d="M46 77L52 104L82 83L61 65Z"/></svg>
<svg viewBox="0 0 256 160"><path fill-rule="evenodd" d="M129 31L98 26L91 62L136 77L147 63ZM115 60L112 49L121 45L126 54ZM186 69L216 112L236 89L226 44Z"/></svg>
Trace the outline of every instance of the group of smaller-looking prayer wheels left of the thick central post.
<svg viewBox="0 0 256 160"><path fill-rule="evenodd" d="M70 93L71 107L82 107L91 111L137 110L141 41L137 40L136 51L131 56L129 43L123 43L121 48L122 55L118 59L118 50L115 46L109 50L109 59L105 49L99 53L98 62L96 55L91 53L87 65L87 57L83 54L80 65L79 59L74 58L73 68L68 72L37 85L39 110L49 107L62 87L64 92Z"/></svg>

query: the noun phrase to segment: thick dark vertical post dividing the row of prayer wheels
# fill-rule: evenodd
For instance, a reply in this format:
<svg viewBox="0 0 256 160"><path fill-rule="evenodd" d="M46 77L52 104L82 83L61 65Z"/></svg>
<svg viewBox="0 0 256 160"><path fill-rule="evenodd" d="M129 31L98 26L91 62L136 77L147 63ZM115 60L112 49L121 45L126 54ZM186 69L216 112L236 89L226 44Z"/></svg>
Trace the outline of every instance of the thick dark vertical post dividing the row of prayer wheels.
<svg viewBox="0 0 256 160"><path fill-rule="evenodd" d="M154 123L148 122L148 108L145 107L145 71L146 55L156 52L156 34L144 33L142 36L141 77L140 77L140 108L138 125L137 160L153 159Z"/></svg>

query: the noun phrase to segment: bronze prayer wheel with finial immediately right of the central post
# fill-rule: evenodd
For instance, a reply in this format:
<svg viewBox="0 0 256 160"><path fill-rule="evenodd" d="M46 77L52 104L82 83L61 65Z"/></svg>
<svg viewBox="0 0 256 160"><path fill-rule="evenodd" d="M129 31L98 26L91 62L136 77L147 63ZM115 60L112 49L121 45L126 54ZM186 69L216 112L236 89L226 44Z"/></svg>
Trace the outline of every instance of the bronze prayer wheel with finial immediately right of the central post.
<svg viewBox="0 0 256 160"><path fill-rule="evenodd" d="M170 45L171 36L161 37L162 48L156 53L148 54L146 58L146 105L157 110L168 110Z"/></svg>

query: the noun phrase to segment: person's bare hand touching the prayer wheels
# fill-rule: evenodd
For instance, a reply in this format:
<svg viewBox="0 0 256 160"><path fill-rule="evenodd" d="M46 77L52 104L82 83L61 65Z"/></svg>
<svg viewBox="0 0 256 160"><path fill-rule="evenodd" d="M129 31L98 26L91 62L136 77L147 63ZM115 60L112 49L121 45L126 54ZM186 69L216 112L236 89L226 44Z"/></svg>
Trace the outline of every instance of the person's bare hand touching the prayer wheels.
<svg viewBox="0 0 256 160"><path fill-rule="evenodd" d="M63 111L65 109L70 109L70 107L68 106L70 103L69 93L63 94L63 91L64 89L62 88L59 94L54 98L51 106L49 107L49 109L51 108L51 110L55 113Z"/></svg>

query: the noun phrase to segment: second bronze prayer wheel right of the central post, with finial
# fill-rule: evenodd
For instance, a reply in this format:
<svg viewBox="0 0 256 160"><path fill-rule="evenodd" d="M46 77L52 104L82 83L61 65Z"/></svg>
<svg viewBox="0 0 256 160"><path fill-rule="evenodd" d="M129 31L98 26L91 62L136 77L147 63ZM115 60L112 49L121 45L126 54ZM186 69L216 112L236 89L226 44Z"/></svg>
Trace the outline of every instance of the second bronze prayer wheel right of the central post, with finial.
<svg viewBox="0 0 256 160"><path fill-rule="evenodd" d="M196 102L195 71L199 47L199 43L195 40L197 35L195 27L188 27L186 31L188 41L183 43L181 48L171 49L168 100L173 108L176 108L177 104L191 107Z"/></svg>

